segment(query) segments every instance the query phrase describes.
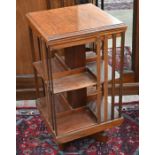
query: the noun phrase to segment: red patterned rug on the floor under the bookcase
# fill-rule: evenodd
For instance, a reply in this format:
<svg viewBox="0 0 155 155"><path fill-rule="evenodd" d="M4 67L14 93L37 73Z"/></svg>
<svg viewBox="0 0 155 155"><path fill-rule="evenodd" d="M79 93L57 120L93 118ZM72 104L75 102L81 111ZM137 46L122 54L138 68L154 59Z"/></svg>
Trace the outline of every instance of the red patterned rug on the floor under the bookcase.
<svg viewBox="0 0 155 155"><path fill-rule="evenodd" d="M93 138L76 140L58 149L37 109L18 109L16 127L17 155L138 155L139 110L137 103L124 108L125 120L119 127L106 131L106 143Z"/></svg>

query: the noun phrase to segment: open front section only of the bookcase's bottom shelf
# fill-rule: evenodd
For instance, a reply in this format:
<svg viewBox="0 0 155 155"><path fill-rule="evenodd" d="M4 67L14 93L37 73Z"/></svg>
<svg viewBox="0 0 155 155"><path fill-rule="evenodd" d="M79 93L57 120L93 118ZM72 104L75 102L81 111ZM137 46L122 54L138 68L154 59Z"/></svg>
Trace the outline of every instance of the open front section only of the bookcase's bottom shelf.
<svg viewBox="0 0 155 155"><path fill-rule="evenodd" d="M58 136L96 124L96 117L87 107L64 112L57 116Z"/></svg>

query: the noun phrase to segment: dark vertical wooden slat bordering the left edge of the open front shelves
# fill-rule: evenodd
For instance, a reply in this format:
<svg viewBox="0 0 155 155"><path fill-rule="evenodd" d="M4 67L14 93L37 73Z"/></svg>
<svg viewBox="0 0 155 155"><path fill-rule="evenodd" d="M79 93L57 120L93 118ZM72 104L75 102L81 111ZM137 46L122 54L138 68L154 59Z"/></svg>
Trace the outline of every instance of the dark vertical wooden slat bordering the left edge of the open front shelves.
<svg viewBox="0 0 155 155"><path fill-rule="evenodd" d="M50 51L50 48L46 49L47 52L47 61L48 61L48 74L49 74L49 92L50 92L50 99L51 99L51 110L52 110L52 118L53 118L53 125L54 125L54 131L57 135L57 121L56 121L56 108L55 108L55 99L54 99L54 87L53 87L53 67L52 67L52 52Z"/></svg>

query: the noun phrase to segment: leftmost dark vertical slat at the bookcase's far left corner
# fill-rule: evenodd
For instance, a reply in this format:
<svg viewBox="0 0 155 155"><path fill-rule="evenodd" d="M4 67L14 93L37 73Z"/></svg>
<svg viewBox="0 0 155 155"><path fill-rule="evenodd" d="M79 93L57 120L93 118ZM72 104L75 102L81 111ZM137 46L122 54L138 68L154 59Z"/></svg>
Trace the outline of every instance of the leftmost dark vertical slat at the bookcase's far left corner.
<svg viewBox="0 0 155 155"><path fill-rule="evenodd" d="M30 37L30 45L31 45L31 53L32 53L32 62L35 62L37 60L36 60L36 54L34 49L33 32L31 28L29 28L29 37ZM35 86L36 86L36 98L39 98L39 81L38 81L37 71L34 67L33 67L33 71L34 71L34 80L35 80Z"/></svg>

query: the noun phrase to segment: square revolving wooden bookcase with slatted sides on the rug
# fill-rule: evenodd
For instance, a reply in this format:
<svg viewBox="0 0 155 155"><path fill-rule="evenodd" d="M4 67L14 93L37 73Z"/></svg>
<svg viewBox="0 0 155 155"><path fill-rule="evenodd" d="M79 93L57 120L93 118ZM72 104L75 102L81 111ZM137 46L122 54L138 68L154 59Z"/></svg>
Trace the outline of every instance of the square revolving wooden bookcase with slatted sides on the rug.
<svg viewBox="0 0 155 155"><path fill-rule="evenodd" d="M89 136L120 125L122 74L126 25L92 4L77 5L26 15L31 38L37 107L58 144ZM121 38L121 67L115 71L116 40ZM113 63L108 65L108 40L112 39ZM69 68L60 49L93 43L95 59L84 67ZM74 51L72 51L74 52ZM77 56L78 59L78 56ZM43 82L44 97L39 95L38 77ZM116 78L119 82L119 113L114 108ZM108 83L112 102L108 102ZM85 106L73 108L66 92L93 87ZM95 112L91 106L95 105ZM110 109L109 109L110 108Z"/></svg>

